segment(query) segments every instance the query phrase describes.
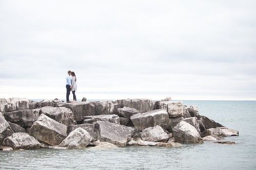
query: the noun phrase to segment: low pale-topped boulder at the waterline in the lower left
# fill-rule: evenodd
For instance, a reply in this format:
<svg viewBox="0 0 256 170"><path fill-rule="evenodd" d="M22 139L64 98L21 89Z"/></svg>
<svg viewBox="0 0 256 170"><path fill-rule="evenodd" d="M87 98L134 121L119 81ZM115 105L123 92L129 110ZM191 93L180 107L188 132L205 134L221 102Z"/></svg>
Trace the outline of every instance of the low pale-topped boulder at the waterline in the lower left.
<svg viewBox="0 0 256 170"><path fill-rule="evenodd" d="M14 150L18 149L39 149L40 143L27 133L13 133L4 139L3 145L11 147Z"/></svg>

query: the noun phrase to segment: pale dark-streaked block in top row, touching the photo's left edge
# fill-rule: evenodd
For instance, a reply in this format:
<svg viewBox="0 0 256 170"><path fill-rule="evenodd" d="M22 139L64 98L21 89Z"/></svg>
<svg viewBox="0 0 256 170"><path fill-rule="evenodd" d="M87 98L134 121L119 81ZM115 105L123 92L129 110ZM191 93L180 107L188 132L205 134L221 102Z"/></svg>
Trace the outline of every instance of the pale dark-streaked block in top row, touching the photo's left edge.
<svg viewBox="0 0 256 170"><path fill-rule="evenodd" d="M1 99L0 104L1 110L6 112L29 109L29 100L26 98Z"/></svg>

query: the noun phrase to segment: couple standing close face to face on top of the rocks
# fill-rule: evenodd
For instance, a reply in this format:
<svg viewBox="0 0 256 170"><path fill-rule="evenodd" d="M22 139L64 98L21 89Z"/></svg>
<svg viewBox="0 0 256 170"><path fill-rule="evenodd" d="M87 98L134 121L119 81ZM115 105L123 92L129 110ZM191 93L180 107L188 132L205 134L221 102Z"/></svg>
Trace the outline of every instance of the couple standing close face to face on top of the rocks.
<svg viewBox="0 0 256 170"><path fill-rule="evenodd" d="M70 91L72 91L73 93L73 102L76 101L76 90L77 90L77 86L76 86L76 75L75 72L73 71L68 71L68 75L66 77L66 88L67 88L67 95L66 95L66 100L67 103L71 103L71 101L69 101L69 94Z"/></svg>

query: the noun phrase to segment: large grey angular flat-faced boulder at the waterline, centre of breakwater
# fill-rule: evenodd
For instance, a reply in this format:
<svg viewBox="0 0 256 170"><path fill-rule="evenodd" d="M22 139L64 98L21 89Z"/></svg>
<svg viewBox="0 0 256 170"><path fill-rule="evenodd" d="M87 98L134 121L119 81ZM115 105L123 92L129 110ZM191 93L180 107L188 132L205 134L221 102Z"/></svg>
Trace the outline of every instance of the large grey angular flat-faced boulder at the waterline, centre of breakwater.
<svg viewBox="0 0 256 170"><path fill-rule="evenodd" d="M98 120L95 122L95 131L98 133L99 141L110 142L118 147L125 147L126 142L131 139L134 129Z"/></svg>

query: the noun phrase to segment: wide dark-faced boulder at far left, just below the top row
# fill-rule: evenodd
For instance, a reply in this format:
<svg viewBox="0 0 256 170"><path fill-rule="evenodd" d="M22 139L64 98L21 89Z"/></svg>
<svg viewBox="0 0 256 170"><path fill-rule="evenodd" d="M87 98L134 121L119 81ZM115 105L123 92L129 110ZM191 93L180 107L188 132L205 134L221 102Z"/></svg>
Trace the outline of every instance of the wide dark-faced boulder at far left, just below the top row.
<svg viewBox="0 0 256 170"><path fill-rule="evenodd" d="M31 127L39 117L39 114L40 109L4 112L4 116L7 121L18 124L24 128Z"/></svg>

